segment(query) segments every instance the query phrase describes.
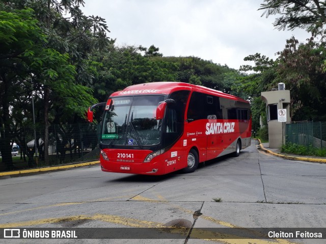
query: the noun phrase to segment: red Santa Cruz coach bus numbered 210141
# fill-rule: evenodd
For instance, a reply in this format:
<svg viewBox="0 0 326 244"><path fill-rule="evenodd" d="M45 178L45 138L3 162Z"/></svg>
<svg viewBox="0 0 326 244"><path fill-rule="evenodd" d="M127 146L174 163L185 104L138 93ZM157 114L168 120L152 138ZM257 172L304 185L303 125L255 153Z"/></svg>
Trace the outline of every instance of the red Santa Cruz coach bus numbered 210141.
<svg viewBox="0 0 326 244"><path fill-rule="evenodd" d="M250 104L220 91L178 82L133 85L114 92L101 122L102 171L163 175L194 172L251 144Z"/></svg>

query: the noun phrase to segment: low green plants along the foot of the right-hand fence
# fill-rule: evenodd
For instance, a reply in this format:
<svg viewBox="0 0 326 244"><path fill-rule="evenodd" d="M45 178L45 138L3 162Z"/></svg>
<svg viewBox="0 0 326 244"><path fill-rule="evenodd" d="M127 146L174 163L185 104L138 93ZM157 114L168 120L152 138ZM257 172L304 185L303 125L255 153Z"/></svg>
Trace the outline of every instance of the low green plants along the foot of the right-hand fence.
<svg viewBox="0 0 326 244"><path fill-rule="evenodd" d="M298 145L295 143L286 143L281 147L281 152L296 155L315 155L320 157L326 156L326 148L314 148L312 146Z"/></svg>

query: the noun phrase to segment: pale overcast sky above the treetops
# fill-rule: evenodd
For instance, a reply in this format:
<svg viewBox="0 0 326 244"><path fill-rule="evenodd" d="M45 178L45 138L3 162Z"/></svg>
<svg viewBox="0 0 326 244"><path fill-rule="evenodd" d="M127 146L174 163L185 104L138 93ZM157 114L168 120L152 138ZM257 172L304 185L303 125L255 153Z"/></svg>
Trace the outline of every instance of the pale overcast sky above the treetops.
<svg viewBox="0 0 326 244"><path fill-rule="evenodd" d="M85 0L83 12L106 20L118 45L154 45L165 57L195 56L238 69L261 53L275 59L286 39L304 42L304 30L278 31L261 17L263 0Z"/></svg>

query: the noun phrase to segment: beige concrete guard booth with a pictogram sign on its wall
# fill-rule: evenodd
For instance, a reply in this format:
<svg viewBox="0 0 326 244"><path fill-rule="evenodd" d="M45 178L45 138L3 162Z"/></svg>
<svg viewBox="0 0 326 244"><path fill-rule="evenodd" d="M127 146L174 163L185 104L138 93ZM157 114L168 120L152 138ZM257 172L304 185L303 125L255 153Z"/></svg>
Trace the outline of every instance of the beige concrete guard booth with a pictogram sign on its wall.
<svg viewBox="0 0 326 244"><path fill-rule="evenodd" d="M269 147L281 148L285 143L285 122L290 121L290 91L279 83L278 89L262 92L261 99L266 103Z"/></svg>

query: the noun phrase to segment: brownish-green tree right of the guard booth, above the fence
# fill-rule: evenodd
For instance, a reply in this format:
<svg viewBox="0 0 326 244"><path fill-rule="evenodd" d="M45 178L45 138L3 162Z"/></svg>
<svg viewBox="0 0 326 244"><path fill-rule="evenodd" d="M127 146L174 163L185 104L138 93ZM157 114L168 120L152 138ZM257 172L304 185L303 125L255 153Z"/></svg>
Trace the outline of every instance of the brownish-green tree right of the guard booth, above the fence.
<svg viewBox="0 0 326 244"><path fill-rule="evenodd" d="M292 119L325 120L325 43L316 42L313 38L299 43L292 37L279 55L276 82L284 82L291 91Z"/></svg>

